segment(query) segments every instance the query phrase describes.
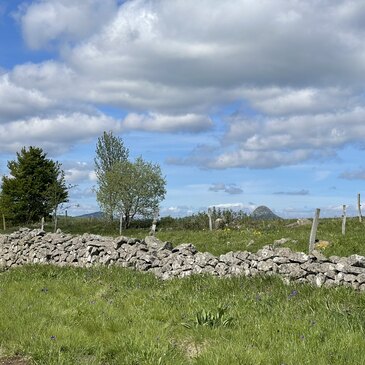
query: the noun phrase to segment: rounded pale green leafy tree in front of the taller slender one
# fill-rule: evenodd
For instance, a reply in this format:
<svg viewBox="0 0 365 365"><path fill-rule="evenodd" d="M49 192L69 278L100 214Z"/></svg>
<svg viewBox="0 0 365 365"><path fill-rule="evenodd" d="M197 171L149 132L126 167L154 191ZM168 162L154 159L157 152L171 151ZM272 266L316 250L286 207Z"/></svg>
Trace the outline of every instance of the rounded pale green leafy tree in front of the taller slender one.
<svg viewBox="0 0 365 365"><path fill-rule="evenodd" d="M116 163L105 175L110 191L117 201L116 210L123 215L126 228L135 216L151 217L164 199L166 181L157 164L138 157L135 162ZM108 199L99 189L98 201Z"/></svg>

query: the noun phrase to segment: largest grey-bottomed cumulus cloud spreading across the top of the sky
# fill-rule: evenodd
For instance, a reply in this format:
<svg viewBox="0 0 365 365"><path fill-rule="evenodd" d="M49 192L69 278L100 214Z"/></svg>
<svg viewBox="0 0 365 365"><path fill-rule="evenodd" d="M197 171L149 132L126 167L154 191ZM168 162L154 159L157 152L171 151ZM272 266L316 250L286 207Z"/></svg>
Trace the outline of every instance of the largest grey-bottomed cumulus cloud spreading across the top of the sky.
<svg viewBox="0 0 365 365"><path fill-rule="evenodd" d="M89 100L181 112L251 93L264 111L294 109L290 104L308 111L321 109L322 99L327 105L339 99L339 87L361 87L365 77L363 29L351 26L358 15L342 3L134 0L115 6L43 0L21 14L33 47L83 40L62 57L79 73L81 87L94 85L84 95ZM90 36L95 20L103 26ZM269 85L278 90L271 98Z"/></svg>

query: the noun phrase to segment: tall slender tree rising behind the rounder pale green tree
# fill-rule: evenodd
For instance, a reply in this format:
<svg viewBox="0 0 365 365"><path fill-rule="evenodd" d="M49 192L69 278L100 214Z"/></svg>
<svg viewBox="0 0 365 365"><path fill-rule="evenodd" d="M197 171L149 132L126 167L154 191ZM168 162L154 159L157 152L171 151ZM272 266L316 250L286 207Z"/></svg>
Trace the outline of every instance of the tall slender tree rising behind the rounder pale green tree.
<svg viewBox="0 0 365 365"><path fill-rule="evenodd" d="M128 161L129 150L124 146L121 138L112 132L104 132L96 144L95 174L98 180L97 200L103 212L113 220L117 211L117 195L107 175L115 164Z"/></svg>

